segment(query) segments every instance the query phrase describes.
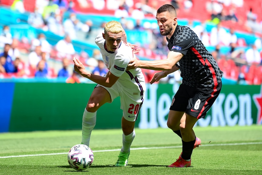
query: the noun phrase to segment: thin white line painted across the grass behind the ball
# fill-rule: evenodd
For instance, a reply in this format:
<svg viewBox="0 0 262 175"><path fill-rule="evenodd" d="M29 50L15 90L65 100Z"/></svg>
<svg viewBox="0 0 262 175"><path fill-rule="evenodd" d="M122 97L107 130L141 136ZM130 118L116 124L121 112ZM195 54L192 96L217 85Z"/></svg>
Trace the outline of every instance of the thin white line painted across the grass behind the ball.
<svg viewBox="0 0 262 175"><path fill-rule="evenodd" d="M201 145L201 147L202 146L257 145L257 144L262 144L262 142L208 144L208 145ZM131 150L139 150L139 149L167 149L167 148L181 148L181 147L182 146L140 147L140 148L131 148ZM120 151L120 149L97 150L97 151L93 151L93 152L109 152L109 151ZM59 154L68 154L68 152L50 153L50 154L19 155L19 156L3 156L3 157L0 157L0 159L2 159L2 158L12 158L12 157L49 156L49 155L59 155Z"/></svg>

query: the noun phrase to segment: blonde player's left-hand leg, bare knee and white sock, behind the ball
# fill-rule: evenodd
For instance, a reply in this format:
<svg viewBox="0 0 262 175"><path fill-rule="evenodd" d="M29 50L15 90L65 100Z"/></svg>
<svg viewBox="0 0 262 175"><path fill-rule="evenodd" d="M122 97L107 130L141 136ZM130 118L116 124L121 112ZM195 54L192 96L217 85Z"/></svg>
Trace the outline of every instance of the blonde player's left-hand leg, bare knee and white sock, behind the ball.
<svg viewBox="0 0 262 175"><path fill-rule="evenodd" d="M105 88L99 86L93 90L83 114L82 144L89 146L91 132L96 123L96 111L109 101L111 101L111 96Z"/></svg>

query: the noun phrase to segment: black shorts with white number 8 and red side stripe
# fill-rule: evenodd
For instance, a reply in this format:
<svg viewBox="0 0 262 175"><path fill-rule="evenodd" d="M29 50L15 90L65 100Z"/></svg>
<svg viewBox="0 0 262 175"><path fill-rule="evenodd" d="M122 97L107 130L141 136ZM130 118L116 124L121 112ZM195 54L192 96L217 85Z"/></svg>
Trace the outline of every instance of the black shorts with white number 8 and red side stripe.
<svg viewBox="0 0 262 175"><path fill-rule="evenodd" d="M181 84L169 109L185 112L197 119L205 118L207 111L218 97L221 87L222 82L217 86L205 88L195 88Z"/></svg>

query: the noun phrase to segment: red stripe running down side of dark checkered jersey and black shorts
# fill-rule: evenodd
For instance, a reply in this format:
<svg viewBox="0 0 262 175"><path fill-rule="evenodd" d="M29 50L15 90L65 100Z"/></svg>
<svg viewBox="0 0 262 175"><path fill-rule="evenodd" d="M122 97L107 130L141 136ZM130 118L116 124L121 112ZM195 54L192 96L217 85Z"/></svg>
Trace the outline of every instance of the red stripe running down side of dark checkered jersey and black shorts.
<svg viewBox="0 0 262 175"><path fill-rule="evenodd" d="M216 79L216 76L215 76L215 70L214 70L214 68L212 67L212 65L210 64L210 62L208 61L208 59L206 59L206 60L204 61L203 57L199 54L199 52L198 52L194 47L191 47L190 49L191 49L191 51L194 52L194 54L197 56L197 58L199 59L199 61L201 61L201 63L202 63L203 65L205 65L205 64L208 65L208 68L209 68L209 70L210 70L211 73L212 73L212 77L213 77L213 81L214 81L214 85L215 85L215 86L214 86L214 91L211 93L211 96L205 101L204 106L202 107L200 113L198 114L197 119L199 119L199 117L201 117L203 111L205 110L205 107L206 107L208 101L214 97L214 93L217 91L216 87L217 87L218 83L217 83L217 79Z"/></svg>

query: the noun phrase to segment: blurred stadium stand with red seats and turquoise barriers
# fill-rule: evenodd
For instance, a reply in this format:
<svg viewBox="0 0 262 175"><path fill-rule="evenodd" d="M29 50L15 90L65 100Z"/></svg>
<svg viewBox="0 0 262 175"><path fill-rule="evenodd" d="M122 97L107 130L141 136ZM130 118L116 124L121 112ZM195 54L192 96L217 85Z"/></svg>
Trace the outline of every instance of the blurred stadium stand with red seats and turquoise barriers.
<svg viewBox="0 0 262 175"><path fill-rule="evenodd" d="M64 37L64 30L59 30L59 33L50 31L45 20L45 26L42 28L35 28L28 24L29 15L34 13L36 9L44 9L49 5L49 0L23 0L24 9L26 12L21 13L12 9L14 1L1 0L0 6L0 31L3 33L3 27L9 26L10 33L13 38L19 40L19 50L21 51L21 64L25 69L22 78L34 78L36 70L30 68L28 65L28 54L32 51L32 40L35 39L40 33L44 33L47 41L51 44L52 49L48 55L48 76L49 79L55 79L57 71L62 67L62 57L59 56L55 45ZM130 43L138 44L141 48L140 53L137 54L139 59L165 59L166 47L165 38L159 35L158 26L155 20L155 10L166 3L171 3L170 0L99 0L99 1L80 1L80 0L66 0L66 10L55 11L50 16L53 20L63 27L63 22L70 18L72 13L76 14L74 25L76 29L76 39L72 40L72 44L76 53L68 55L68 58L77 56L85 65L91 70L95 64L88 61L92 58L93 50L97 49L94 44L94 38L99 31L103 29L103 23L109 20L117 20L125 27L128 40ZM100 2L100 5L97 3ZM115 2L115 3L114 3ZM116 2L125 2L119 3ZM224 82L228 83L244 83L244 84L261 84L261 64L253 65L247 64L245 58L242 57L242 52L250 48L255 40L262 35L262 3L260 0L240 0L240 1L226 1L226 0L192 0L192 4L188 5L184 0L178 1L178 18L179 25L191 25L192 28L196 26L203 26L207 36L211 37L211 30L217 26L218 23L222 28L229 33L230 28L234 28L237 37L236 46L232 48L230 45L219 44L219 49L215 45L206 45L207 49L211 52L217 52L217 61L219 66L224 72ZM112 6L114 3L114 6ZM220 9L219 9L220 8ZM126 9L128 12L127 17L116 17L115 12L117 9ZM140 20L140 27L134 29L137 23L136 19L131 18L131 13L134 9L142 9L145 18ZM217 11L216 11L217 10ZM219 11L220 10L220 11ZM89 23L88 23L89 21ZM91 23L90 23L91 22ZM192 23L191 23L192 22ZM250 22L250 23L248 23ZM250 24L257 24L260 28L252 28ZM259 30L260 29L260 30ZM88 35L87 35L88 32ZM139 38L139 40L138 40ZM161 44L160 44L161 43ZM238 50L242 52L232 57ZM261 48L258 49L260 57L262 55ZM215 53L214 53L215 54ZM242 55L242 56L241 56ZM71 59L72 60L72 59ZM90 59L91 60L91 59ZM89 65L90 64L90 65ZM69 66L72 71L71 66ZM153 71L144 70L148 79L152 77ZM2 78L18 77L16 73L8 74L1 73ZM244 80L244 81L243 81ZM165 80L166 81L166 80Z"/></svg>

